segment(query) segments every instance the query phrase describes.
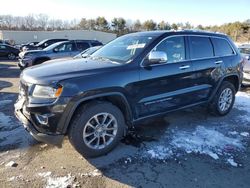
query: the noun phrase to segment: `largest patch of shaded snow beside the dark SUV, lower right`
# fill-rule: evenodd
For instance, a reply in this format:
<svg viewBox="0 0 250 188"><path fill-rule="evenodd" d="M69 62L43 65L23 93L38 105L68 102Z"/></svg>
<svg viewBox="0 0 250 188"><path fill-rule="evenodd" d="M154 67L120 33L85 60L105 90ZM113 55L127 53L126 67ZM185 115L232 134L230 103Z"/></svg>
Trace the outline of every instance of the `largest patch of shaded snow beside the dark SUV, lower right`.
<svg viewBox="0 0 250 188"><path fill-rule="evenodd" d="M231 156L231 151L244 149L239 136L231 138L214 128L198 126L193 131L179 130L172 133L173 136L169 141L151 145L146 154L150 158L163 160L184 152L203 154L217 160L220 156Z"/></svg>

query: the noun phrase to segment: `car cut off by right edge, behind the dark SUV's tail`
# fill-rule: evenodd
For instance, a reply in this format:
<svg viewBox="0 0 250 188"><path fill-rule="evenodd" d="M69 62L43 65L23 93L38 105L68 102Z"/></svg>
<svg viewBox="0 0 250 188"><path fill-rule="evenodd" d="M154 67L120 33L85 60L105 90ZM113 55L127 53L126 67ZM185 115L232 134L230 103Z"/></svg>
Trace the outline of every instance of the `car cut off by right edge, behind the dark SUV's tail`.
<svg viewBox="0 0 250 188"><path fill-rule="evenodd" d="M250 44L243 44L239 46L239 50L240 50L240 53L245 58L242 84L247 86L247 85L250 85Z"/></svg>

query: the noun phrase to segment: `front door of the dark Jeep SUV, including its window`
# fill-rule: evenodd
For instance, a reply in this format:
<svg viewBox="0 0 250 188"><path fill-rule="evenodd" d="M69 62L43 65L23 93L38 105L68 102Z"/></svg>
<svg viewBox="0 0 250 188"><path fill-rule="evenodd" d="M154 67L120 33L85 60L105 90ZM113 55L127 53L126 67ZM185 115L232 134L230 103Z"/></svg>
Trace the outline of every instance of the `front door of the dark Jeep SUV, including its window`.
<svg viewBox="0 0 250 188"><path fill-rule="evenodd" d="M169 37L153 51L167 54L167 62L150 64L147 58L140 68L140 92L137 96L138 118L159 114L189 105L193 101L193 65L187 60L186 38Z"/></svg>

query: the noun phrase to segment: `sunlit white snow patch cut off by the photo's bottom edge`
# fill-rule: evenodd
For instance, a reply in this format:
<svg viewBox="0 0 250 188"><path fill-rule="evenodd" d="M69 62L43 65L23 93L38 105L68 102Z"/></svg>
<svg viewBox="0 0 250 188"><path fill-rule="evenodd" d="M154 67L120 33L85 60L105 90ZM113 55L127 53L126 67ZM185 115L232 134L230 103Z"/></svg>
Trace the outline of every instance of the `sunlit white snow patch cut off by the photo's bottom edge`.
<svg viewBox="0 0 250 188"><path fill-rule="evenodd" d="M46 188L66 188L72 185L74 179L70 174L63 177L48 177Z"/></svg>

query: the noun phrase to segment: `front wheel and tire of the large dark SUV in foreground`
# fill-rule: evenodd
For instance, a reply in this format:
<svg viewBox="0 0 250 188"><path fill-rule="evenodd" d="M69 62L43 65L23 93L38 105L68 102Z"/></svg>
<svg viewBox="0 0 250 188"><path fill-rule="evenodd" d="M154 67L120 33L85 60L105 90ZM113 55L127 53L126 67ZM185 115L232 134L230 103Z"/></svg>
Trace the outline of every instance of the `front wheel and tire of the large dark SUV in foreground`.
<svg viewBox="0 0 250 188"><path fill-rule="evenodd" d="M105 116L106 119L104 120ZM97 117L99 125L95 117ZM110 121L111 123L109 123ZM107 130L102 130L105 129L105 126L107 126ZM108 153L117 146L124 135L124 131L124 116L118 107L108 102L90 102L77 110L70 125L68 137L71 144L81 155L97 157ZM105 136L103 137L103 135ZM97 145L99 148L97 148Z"/></svg>

